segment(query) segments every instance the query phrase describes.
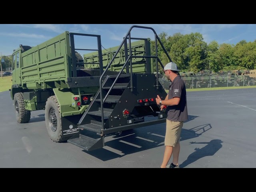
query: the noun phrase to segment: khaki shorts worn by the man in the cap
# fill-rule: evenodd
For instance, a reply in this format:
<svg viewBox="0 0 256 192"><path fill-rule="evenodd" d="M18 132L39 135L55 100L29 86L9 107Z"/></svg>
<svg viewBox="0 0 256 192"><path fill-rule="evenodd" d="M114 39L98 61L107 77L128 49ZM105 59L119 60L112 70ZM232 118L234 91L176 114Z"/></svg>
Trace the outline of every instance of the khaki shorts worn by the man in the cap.
<svg viewBox="0 0 256 192"><path fill-rule="evenodd" d="M180 142L180 133L183 122L175 122L166 119L166 133L164 138L165 146L175 147Z"/></svg>

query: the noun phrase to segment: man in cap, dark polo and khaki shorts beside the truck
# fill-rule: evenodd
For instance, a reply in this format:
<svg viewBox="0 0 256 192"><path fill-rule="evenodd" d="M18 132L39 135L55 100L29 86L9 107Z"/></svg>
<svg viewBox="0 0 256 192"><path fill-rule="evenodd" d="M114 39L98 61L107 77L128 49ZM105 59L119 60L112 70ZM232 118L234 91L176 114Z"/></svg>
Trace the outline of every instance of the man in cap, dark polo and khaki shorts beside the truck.
<svg viewBox="0 0 256 192"><path fill-rule="evenodd" d="M188 120L186 86L178 74L178 67L174 62L166 64L164 74L171 81L169 93L165 100L161 100L159 95L156 103L167 106L166 134L164 139L165 151L161 168L179 168L178 160L180 154L180 133L183 122ZM170 167L167 166L173 154Z"/></svg>

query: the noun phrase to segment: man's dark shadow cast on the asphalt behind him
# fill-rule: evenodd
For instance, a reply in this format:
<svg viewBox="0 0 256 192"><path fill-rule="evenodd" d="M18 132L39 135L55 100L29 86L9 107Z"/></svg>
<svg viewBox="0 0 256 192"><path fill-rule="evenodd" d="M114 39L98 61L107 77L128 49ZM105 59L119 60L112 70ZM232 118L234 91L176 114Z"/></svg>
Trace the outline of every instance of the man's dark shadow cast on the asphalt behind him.
<svg viewBox="0 0 256 192"><path fill-rule="evenodd" d="M190 154L188 158L180 164L180 168L184 168L191 163L196 162L198 159L205 156L213 156L220 148L222 148L222 140L214 139L210 142L190 142L190 144L207 144L203 148L195 148L195 152Z"/></svg>

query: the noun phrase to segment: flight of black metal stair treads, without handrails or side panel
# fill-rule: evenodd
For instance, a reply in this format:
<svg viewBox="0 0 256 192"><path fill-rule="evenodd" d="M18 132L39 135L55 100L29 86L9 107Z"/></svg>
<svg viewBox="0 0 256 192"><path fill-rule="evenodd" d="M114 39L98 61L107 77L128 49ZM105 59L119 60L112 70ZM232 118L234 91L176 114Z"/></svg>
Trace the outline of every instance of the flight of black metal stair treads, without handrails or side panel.
<svg viewBox="0 0 256 192"><path fill-rule="evenodd" d="M116 75L107 76L102 84L103 96L106 97L107 92L111 89ZM106 97L105 103L103 105L103 119L104 126L102 126L102 108L101 108L101 98L100 90L94 96L94 99L91 101L90 105L84 112L82 118L78 122L78 128L80 130L87 130L90 132L96 132L100 139L94 139L88 136L84 136L79 133L79 137L75 136L68 140L69 143L72 143L84 150L91 151L104 146L104 135L102 134L104 129L109 128L108 119L114 111L116 104L120 101L122 93L128 87L130 82L130 74L123 74L119 77L119 81L113 85L111 94Z"/></svg>

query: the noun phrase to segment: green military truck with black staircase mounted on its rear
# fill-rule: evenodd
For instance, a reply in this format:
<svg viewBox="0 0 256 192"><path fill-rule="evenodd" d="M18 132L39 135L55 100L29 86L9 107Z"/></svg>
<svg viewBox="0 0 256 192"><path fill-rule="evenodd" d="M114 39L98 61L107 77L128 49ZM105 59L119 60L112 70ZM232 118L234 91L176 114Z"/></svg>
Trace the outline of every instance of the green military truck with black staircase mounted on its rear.
<svg viewBox="0 0 256 192"><path fill-rule="evenodd" d="M167 95L158 81L158 63L164 66L157 44L151 55L150 39L132 38L133 28L152 30L172 61L145 26L132 26L120 46L103 51L100 35L68 31L34 47L20 45L12 54L10 89L17 122L44 110L51 140L87 151L103 148L109 134L164 123L166 111L155 100ZM76 48L75 36L96 38L98 49ZM83 58L80 50L92 53Z"/></svg>

